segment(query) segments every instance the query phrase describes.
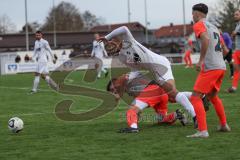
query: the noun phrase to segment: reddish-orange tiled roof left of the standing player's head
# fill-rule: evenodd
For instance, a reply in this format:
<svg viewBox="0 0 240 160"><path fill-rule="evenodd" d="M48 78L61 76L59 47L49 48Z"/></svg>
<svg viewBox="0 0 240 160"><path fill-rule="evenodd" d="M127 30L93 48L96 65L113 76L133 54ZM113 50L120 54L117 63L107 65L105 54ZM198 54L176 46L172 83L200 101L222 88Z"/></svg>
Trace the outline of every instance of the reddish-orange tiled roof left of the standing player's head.
<svg viewBox="0 0 240 160"><path fill-rule="evenodd" d="M163 26L155 31L156 38L162 37L182 37L183 36L183 29L184 25L173 25L170 24L169 26ZM187 24L186 25L186 35L190 35L193 32L193 25Z"/></svg>

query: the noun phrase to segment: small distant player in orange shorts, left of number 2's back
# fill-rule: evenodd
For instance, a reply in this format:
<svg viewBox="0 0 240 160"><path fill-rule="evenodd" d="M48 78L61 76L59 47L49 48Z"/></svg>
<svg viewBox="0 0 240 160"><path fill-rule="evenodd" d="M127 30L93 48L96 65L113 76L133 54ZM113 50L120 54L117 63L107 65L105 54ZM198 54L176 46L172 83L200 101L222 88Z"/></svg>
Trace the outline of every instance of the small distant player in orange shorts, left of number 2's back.
<svg viewBox="0 0 240 160"><path fill-rule="evenodd" d="M192 67L192 59L191 59L191 53L193 52L193 42L191 39L188 39L186 37L185 42L185 55L184 55L184 61L185 61L185 68Z"/></svg>

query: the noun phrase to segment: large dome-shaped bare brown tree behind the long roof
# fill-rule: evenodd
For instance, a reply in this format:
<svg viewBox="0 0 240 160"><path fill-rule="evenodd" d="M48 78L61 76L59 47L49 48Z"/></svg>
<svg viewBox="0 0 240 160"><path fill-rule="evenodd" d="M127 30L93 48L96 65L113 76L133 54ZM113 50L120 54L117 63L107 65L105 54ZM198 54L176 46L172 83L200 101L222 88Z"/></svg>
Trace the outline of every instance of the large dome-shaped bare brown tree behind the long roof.
<svg viewBox="0 0 240 160"><path fill-rule="evenodd" d="M61 2L52 8L41 27L43 31L53 31L54 15L56 31L81 31L83 20L79 10L71 3Z"/></svg>

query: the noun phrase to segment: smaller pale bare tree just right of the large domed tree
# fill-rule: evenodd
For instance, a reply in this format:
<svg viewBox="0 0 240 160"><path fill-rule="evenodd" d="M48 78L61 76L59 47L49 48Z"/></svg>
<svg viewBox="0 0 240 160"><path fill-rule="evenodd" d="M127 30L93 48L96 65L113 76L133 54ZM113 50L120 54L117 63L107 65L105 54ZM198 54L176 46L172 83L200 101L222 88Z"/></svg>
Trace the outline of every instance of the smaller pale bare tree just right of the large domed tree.
<svg viewBox="0 0 240 160"><path fill-rule="evenodd" d="M104 24L104 20L102 18L96 17L96 15L92 14L90 11L85 11L82 14L82 19L85 30L90 30L94 26Z"/></svg>

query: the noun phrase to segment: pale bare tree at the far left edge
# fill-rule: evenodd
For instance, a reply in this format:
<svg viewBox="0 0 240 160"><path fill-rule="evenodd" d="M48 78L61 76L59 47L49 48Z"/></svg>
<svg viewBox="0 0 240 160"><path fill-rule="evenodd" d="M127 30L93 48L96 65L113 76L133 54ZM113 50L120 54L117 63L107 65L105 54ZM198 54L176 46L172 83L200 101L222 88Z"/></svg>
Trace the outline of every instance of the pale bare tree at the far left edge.
<svg viewBox="0 0 240 160"><path fill-rule="evenodd" d="M12 33L16 31L16 26L7 15L0 16L0 34Z"/></svg>

